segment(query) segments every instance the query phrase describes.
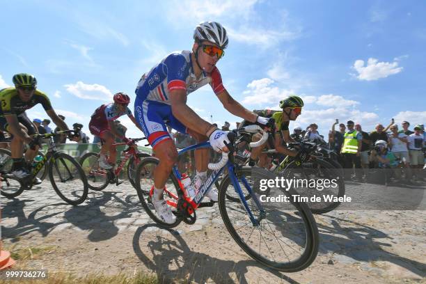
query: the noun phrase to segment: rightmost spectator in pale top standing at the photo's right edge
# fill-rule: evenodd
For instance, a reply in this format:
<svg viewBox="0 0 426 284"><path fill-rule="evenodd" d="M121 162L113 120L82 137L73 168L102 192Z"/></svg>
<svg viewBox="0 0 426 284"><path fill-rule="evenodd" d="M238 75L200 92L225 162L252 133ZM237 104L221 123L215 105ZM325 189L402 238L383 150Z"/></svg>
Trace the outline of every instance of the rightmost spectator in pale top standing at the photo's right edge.
<svg viewBox="0 0 426 284"><path fill-rule="evenodd" d="M422 127L416 125L414 127L414 133L408 136L410 164L413 168L413 174L416 175L417 180L423 180L422 169L425 166L425 157L423 155L423 145L425 143L425 137L420 132Z"/></svg>

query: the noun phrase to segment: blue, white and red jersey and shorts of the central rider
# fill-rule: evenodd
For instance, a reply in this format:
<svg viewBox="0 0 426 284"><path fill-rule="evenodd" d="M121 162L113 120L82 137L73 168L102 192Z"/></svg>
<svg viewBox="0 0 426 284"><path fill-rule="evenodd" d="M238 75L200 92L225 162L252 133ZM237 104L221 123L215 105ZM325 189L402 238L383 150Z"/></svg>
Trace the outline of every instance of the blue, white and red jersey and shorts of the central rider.
<svg viewBox="0 0 426 284"><path fill-rule="evenodd" d="M197 79L192 70L191 52L173 52L164 58L150 72L143 74L136 88L134 113L152 148L171 139L166 123L178 132L186 127L173 116L171 111L172 90L186 90L187 95L210 84L216 95L223 93L221 74L214 67L210 74L203 72Z"/></svg>

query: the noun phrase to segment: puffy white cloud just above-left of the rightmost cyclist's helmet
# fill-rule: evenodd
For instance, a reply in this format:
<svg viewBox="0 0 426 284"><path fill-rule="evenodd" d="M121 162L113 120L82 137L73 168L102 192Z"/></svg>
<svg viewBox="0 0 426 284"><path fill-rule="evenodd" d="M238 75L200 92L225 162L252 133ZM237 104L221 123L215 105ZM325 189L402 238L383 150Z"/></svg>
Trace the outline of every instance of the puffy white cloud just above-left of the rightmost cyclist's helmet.
<svg viewBox="0 0 426 284"><path fill-rule="evenodd" d="M270 86L274 81L269 78L253 80L247 85L248 90L243 93L246 95L243 104L271 104L271 102L278 102L291 95L292 90L281 90L276 86Z"/></svg>

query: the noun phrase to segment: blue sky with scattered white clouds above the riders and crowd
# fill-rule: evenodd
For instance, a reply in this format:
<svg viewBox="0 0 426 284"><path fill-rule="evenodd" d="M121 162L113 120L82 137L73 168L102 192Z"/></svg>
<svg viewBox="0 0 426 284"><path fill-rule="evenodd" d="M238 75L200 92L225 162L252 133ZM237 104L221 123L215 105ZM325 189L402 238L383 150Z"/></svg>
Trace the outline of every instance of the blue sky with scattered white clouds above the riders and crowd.
<svg viewBox="0 0 426 284"><path fill-rule="evenodd" d="M228 92L248 109L277 108L289 94L306 107L290 127L336 118L376 123L426 120L423 1L1 1L0 88L36 75L68 125L123 91L168 53L191 49L194 26L221 22L230 34L217 64ZM189 105L221 125L240 121L209 86ZM30 118L46 118L41 107ZM141 136L128 119L129 136Z"/></svg>

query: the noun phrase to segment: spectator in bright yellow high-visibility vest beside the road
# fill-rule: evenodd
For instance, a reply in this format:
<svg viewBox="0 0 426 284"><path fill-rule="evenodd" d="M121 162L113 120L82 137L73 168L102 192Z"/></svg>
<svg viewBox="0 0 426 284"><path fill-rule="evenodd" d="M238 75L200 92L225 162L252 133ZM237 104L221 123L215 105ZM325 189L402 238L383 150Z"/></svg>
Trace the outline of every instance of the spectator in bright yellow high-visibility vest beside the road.
<svg viewBox="0 0 426 284"><path fill-rule="evenodd" d="M361 181L361 146L363 136L354 129L354 122L348 120L347 132L343 141L342 150L340 151L345 160L345 178L351 179L352 169L355 167L355 178Z"/></svg>

